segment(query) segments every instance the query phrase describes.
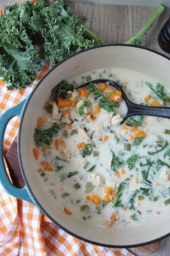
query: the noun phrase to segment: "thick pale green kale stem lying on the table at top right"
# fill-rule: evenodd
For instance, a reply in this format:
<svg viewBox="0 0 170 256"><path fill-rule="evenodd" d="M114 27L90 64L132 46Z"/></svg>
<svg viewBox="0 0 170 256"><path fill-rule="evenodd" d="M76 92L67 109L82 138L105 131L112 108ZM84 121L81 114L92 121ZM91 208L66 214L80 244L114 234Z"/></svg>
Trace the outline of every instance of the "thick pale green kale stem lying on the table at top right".
<svg viewBox="0 0 170 256"><path fill-rule="evenodd" d="M124 44L135 44L135 41L138 38L141 38L142 36L146 35L146 33L149 30L149 28L152 27L153 23L156 21L156 19L159 17L159 15L164 11L164 9L165 9L165 7L162 6L162 4L160 4L158 9L154 13L154 15L152 15L150 20L148 20L148 22L146 23L146 25L143 26L143 28L135 36L133 36L131 39L129 39Z"/></svg>

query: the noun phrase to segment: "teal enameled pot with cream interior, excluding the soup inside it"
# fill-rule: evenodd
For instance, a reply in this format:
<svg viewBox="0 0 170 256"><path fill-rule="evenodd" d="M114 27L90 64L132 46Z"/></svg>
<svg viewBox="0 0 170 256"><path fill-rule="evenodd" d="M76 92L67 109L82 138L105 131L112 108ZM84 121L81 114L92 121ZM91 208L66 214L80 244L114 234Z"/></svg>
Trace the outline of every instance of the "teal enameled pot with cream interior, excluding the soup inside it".
<svg viewBox="0 0 170 256"><path fill-rule="evenodd" d="M79 68L76 68L78 67ZM170 59L163 54L140 46L124 44L101 45L83 50L57 63L40 80L30 96L0 117L0 180L2 186L15 197L35 204L58 227L83 241L105 247L135 247L154 243L170 232L170 208L143 225L115 229L115 232L89 226L64 213L47 193L37 172L33 156L33 134L38 117L54 86L63 79L69 81L86 71L105 67L120 67L140 71L154 77L170 89ZM76 68L76 69L75 69ZM20 117L18 157L25 187L16 188L8 179L3 162L3 137L5 127L14 116Z"/></svg>

